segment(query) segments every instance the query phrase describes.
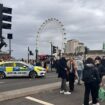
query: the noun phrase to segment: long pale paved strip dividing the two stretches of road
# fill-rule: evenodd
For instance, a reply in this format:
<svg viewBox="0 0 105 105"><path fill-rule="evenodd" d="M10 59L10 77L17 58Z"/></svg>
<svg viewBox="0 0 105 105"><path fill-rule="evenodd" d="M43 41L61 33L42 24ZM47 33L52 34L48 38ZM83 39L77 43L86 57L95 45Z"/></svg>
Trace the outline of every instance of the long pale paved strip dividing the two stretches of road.
<svg viewBox="0 0 105 105"><path fill-rule="evenodd" d="M44 91L48 93L51 90L59 89L59 87L60 87L60 82L55 82L55 83L48 83L48 84L43 84L43 85L38 85L38 86L22 88L22 89L5 91L5 92L0 93L0 101L6 101L9 99L25 97L25 96L29 96L32 94L34 95L34 94L38 94L38 93L44 92ZM80 87L79 90L81 90L82 88L83 88L83 86ZM58 93L58 91L56 91L56 92ZM82 92L83 92L83 89L82 89ZM76 92L76 94L77 94L77 92ZM82 96L82 98L83 98L81 91L80 91L79 95ZM80 97L80 96L78 96L78 97ZM80 100L80 99L78 99L78 100ZM64 104L61 104L61 105L64 105Z"/></svg>

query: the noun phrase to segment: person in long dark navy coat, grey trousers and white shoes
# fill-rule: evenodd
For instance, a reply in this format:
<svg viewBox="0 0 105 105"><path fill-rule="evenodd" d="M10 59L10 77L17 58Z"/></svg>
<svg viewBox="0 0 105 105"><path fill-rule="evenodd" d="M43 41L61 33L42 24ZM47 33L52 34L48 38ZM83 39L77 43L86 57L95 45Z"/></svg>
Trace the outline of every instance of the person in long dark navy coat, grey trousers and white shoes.
<svg viewBox="0 0 105 105"><path fill-rule="evenodd" d="M64 93L65 95L71 94L69 91L67 91L67 84L66 84L66 79L67 79L67 61L65 59L65 56L59 59L58 65L59 65L59 70L58 70L58 77L61 78L61 90L60 93Z"/></svg>

